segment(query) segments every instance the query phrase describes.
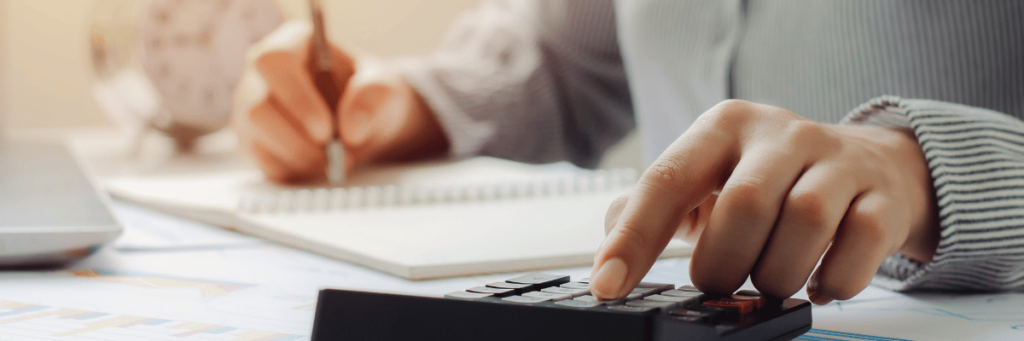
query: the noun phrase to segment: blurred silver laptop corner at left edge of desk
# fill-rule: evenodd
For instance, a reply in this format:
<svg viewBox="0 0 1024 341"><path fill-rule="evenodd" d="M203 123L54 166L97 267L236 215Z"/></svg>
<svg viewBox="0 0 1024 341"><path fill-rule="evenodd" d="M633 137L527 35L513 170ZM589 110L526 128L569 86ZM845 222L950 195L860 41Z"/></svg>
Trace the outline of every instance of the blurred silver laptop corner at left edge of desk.
<svg viewBox="0 0 1024 341"><path fill-rule="evenodd" d="M0 139L0 268L66 264L121 230L63 144Z"/></svg>

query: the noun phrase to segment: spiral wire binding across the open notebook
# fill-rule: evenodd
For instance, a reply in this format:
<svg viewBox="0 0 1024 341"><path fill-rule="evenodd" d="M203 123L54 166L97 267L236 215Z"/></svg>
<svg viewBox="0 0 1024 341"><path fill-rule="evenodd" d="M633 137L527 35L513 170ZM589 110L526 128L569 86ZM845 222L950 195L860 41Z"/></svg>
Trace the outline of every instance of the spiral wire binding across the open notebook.
<svg viewBox="0 0 1024 341"><path fill-rule="evenodd" d="M587 171L573 176L527 180L453 183L435 186L385 185L283 190L243 196L238 212L249 214L510 201L621 191L636 184L632 168Z"/></svg>

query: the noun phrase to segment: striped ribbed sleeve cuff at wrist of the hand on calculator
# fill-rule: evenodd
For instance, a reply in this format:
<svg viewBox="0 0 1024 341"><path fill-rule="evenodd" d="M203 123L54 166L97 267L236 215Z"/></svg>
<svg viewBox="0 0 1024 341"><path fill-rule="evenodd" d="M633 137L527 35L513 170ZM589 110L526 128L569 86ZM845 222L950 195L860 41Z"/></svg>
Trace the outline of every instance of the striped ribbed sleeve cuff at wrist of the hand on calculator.
<svg viewBox="0 0 1024 341"><path fill-rule="evenodd" d="M1024 289L1024 122L979 108L885 96L844 123L912 129L939 206L941 239L932 261L894 255L880 266L876 285Z"/></svg>

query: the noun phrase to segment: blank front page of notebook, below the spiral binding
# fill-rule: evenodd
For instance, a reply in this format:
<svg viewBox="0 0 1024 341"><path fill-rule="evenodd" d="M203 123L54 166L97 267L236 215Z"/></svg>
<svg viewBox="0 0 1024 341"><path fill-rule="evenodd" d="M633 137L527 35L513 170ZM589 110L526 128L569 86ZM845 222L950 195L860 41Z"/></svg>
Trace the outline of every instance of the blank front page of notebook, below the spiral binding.
<svg viewBox="0 0 1024 341"><path fill-rule="evenodd" d="M496 189L489 197L479 191L502 185L468 184L446 194L443 188L419 188L413 195L433 196L420 196L416 204L394 203L394 198L385 203L385 189L374 197L376 205L352 204L351 197L343 196L349 203L340 208L326 207L331 206L322 202L330 197L327 193L319 200L296 196L269 207L250 203L240 209L239 228L409 279L591 264L604 240L604 214L628 188L623 183L632 181L590 186L564 182L547 187L520 182L518 189L506 185L504 194ZM390 189L395 197L401 188ZM369 197L367 193L360 197ZM477 196L467 198L467 193ZM673 242L663 256L689 251L687 245Z"/></svg>

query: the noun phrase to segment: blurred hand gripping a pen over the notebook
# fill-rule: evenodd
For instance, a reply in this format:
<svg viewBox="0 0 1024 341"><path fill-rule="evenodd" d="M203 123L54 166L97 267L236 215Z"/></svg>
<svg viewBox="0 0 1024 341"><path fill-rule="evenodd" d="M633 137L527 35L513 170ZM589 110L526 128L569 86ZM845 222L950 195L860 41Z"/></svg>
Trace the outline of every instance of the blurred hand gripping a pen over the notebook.
<svg viewBox="0 0 1024 341"><path fill-rule="evenodd" d="M268 179L316 182L334 172L338 181L339 168L344 175L447 150L433 113L386 62L356 62L315 31L286 23L247 55L231 124ZM316 56L325 50L329 67ZM329 153L337 160L330 171Z"/></svg>

